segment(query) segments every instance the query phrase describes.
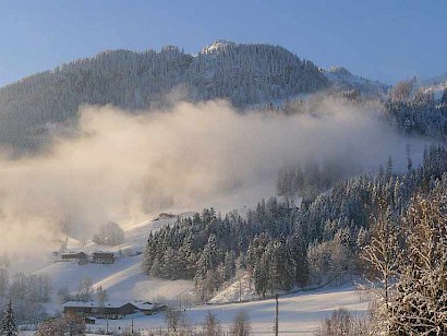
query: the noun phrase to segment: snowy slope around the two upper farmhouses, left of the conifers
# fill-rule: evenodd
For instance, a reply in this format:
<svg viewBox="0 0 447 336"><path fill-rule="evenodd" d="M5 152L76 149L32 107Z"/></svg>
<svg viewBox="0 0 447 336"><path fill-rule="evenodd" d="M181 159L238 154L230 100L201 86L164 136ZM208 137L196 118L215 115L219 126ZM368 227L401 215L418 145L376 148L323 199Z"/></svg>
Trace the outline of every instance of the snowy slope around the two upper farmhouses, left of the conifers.
<svg viewBox="0 0 447 336"><path fill-rule="evenodd" d="M182 214L189 216L190 214ZM69 250L73 252L84 251L93 253L96 251L111 251L118 256L111 265L86 264L78 265L75 262L55 262L47 267L36 272L45 274L52 281L52 301L57 302L59 288L68 288L72 293L78 289L83 278L93 280L93 288L102 286L107 290L110 300L147 300L150 302L170 301L177 297L190 292L193 283L188 280L162 280L148 276L142 268L142 252L150 231L157 230L168 224L176 223L176 218L149 220L144 223L130 223L123 226L125 240L122 244L107 248L99 247L93 242L82 247L76 240L69 241ZM56 305L52 307L58 310ZM51 310L51 308L49 308ZM59 307L59 310L61 307Z"/></svg>

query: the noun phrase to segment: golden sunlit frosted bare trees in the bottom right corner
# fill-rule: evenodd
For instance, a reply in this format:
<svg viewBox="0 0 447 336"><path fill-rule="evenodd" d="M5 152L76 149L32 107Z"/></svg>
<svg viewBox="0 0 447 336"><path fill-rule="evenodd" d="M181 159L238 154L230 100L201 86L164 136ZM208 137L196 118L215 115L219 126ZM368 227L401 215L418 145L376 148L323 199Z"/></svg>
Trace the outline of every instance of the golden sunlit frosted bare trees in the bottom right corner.
<svg viewBox="0 0 447 336"><path fill-rule="evenodd" d="M447 175L400 217L382 218L364 250L374 284L375 333L447 334Z"/></svg>

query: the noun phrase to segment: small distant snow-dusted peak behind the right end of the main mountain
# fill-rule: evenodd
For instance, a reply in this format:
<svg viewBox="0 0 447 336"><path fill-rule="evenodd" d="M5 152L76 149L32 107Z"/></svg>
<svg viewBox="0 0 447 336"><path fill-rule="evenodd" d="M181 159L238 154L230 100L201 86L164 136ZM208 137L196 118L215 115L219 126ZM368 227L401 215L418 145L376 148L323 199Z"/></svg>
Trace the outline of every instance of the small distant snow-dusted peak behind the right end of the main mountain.
<svg viewBox="0 0 447 336"><path fill-rule="evenodd" d="M389 85L380 82L374 82L353 75L342 67L333 67L329 70L322 69L322 72L329 80L331 87L336 91L357 89L366 97L384 97L390 88Z"/></svg>

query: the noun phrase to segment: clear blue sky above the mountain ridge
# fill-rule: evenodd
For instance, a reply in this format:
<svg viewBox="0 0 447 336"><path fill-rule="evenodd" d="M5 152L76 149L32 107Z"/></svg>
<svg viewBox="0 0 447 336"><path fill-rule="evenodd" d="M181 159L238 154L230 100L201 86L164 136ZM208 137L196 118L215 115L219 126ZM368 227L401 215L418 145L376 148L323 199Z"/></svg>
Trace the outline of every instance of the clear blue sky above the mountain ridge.
<svg viewBox="0 0 447 336"><path fill-rule="evenodd" d="M106 49L280 45L386 83L447 72L443 0L0 0L0 85Z"/></svg>

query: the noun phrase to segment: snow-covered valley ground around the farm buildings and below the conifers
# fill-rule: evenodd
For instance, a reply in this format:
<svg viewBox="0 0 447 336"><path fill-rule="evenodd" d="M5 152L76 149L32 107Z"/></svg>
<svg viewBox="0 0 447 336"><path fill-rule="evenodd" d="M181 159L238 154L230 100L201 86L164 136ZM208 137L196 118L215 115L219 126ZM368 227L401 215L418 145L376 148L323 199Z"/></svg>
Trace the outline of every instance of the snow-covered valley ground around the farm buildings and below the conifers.
<svg viewBox="0 0 447 336"><path fill-rule="evenodd" d="M145 223L130 224L125 229L125 241L123 244L113 248L119 250L142 251L147 236L176 219L159 219ZM70 250L85 251L92 253L99 249L94 243L82 247L76 241L70 241ZM104 248L102 248L104 249ZM59 288L67 287L71 292L76 292L81 280L89 277L94 288L102 286L112 300L148 300L152 302L176 302L191 300L192 281L186 280L160 280L150 278L142 269L142 255L122 256L116 260L112 265L87 264L77 265L70 262L57 262L38 271L39 274L47 274L52 279L53 302L48 304L49 312L60 311L62 308L58 303L56 293ZM208 311L214 312L225 328L229 328L234 315L243 310L250 315L253 335L271 334L275 315L275 300L251 301L244 303L228 303L238 301L241 295L242 300L255 298L255 293L250 286L246 276L241 281L234 281L227 289L218 293L212 302L217 304L205 304L198 307L188 307L184 315L189 325L201 328L201 325ZM330 313L345 307L348 310L363 313L366 303L361 302L353 286L345 288L327 288L315 291L305 291L283 296L279 299L279 331L281 335L312 335L318 327L321 321ZM123 331L132 323L128 320L110 320L109 331ZM153 316L134 316L135 329L143 331L143 335L148 331L166 328L162 313ZM90 333L106 329L106 321L98 320L96 325L89 326ZM22 332L21 335L32 335Z"/></svg>

